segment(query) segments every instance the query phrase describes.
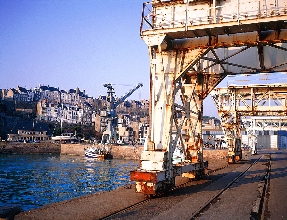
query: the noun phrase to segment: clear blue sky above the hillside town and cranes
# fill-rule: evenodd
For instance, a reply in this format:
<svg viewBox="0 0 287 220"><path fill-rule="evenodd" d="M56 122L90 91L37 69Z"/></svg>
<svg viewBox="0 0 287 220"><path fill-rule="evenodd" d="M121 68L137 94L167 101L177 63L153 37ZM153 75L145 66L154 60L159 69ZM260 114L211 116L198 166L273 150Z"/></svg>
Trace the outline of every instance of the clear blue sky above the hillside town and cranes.
<svg viewBox="0 0 287 220"><path fill-rule="evenodd" d="M1 0L0 88L79 87L98 98L106 95L104 83L142 82L128 100L148 99L148 47L139 35L144 2ZM120 97L133 86L113 87ZM203 114L218 117L211 98L204 103Z"/></svg>

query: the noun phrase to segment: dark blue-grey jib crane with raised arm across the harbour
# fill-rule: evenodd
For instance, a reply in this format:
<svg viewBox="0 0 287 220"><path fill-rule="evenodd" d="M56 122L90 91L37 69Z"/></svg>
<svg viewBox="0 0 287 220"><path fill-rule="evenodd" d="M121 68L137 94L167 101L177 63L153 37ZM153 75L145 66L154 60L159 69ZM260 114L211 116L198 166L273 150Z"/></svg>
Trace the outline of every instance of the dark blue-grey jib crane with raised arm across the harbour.
<svg viewBox="0 0 287 220"><path fill-rule="evenodd" d="M113 131L112 122L115 119L116 111L115 108L119 106L127 97L129 97L135 90L137 90L139 87L143 86L142 83L137 84L135 87L133 87L131 90L129 90L125 95L123 95L121 98L117 98L115 90L111 86L111 84L103 84L104 87L108 88L108 94L106 96L107 102L107 108L105 111L101 111L101 117L106 117L108 121L108 126L106 131L103 132L102 135L102 141L101 143L104 144L105 138L107 138L107 144L110 144L112 140L114 140L115 143L117 143L117 132Z"/></svg>

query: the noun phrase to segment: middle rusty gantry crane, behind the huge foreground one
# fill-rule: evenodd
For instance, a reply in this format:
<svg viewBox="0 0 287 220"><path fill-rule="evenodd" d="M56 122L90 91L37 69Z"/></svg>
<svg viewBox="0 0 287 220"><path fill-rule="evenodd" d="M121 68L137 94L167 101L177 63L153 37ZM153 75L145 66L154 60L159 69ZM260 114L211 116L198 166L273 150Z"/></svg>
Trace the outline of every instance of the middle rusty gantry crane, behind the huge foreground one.
<svg viewBox="0 0 287 220"><path fill-rule="evenodd" d="M287 84L234 85L214 89L211 95L216 108L218 108L225 139L228 139L228 154L230 155L234 148L235 155L236 151L239 152L239 148L241 152L241 141L237 140L241 135L241 116L287 115ZM249 136L252 142L256 141L254 131L249 131ZM256 144L253 144L252 153L254 154L256 151ZM229 160L228 162L231 162ZM234 162L236 158L232 160Z"/></svg>

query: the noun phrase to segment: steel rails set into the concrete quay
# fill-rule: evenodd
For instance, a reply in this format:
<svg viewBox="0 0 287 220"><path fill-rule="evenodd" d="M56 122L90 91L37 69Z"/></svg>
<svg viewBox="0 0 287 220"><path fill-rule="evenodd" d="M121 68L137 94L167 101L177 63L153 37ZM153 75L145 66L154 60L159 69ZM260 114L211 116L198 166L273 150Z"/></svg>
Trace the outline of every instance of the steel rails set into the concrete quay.
<svg viewBox="0 0 287 220"><path fill-rule="evenodd" d="M252 156L252 155L250 155L250 156ZM245 157L244 159L249 158L250 156ZM260 156L260 157L259 157L257 160L255 160L249 167L247 167L244 171L242 171L241 173L239 173L239 175L237 175L234 179L232 179L222 190L220 190L220 192L218 192L215 196L213 196L212 198L210 198L210 199L208 200L208 202L206 202L203 206L201 206L201 207L200 207L196 212L194 212L188 219L195 219L195 218L201 213L201 211L203 211L209 204L212 203L212 201L214 201L214 200L215 200L216 198L218 198L224 191L226 191L228 188L230 188L230 186L231 186L236 180L238 180L239 178L243 177L243 176L247 173L247 171L248 171L254 164L256 164L257 162L259 162L259 160L260 160L263 156L266 156L266 154L263 154L262 156ZM260 203L260 211L261 211L260 213L264 213L264 209L265 209L265 200L264 200L264 198L265 198L265 194L266 194L266 192L267 192L265 189L267 189L267 187L268 187L269 171L270 171L270 169L271 169L271 159L272 159L272 158L271 158L271 156L270 156L269 167L268 167L267 172L266 172L267 174L266 174L266 177L265 177L265 185L264 185L263 195L262 195L261 203ZM212 173L214 173L214 172L216 172L216 171L219 171L219 170L221 170L221 169L224 169L224 168L226 168L226 167L229 167L229 166L232 166L232 165L228 164L228 165L226 165L226 166L224 166L224 167L221 167L221 168L218 168L218 169L214 169L214 170L211 171L210 173L207 173L207 174L205 174L205 175L200 176L198 179L200 179L200 178L202 178L202 177L205 177L205 176L208 176L208 175L211 175ZM183 183L183 184L181 184L181 185L178 185L178 186L172 188L171 190L169 190L168 192L173 191L173 190L175 190L175 189L177 189L177 188L183 187L183 186L185 186L185 185L187 185L187 184L190 184L190 182L187 182L187 183ZM164 194L164 193L162 193L162 194ZM158 194L156 197L158 197L158 196L160 196L160 195L162 195L162 194ZM123 209L123 210L120 210L120 211L118 211L118 212L116 212L116 213L113 213L113 214L111 214L111 215L105 216L105 217L103 217L103 218L101 218L101 219L103 219L103 220L105 220L105 219L112 219L113 217L115 217L115 216L117 216L117 215L119 215L119 214L121 214L121 213L124 213L124 212L128 211L129 209L132 209L132 208L134 208L134 207L136 207L136 206L139 206L139 205L141 205L141 204L144 204L144 203L146 203L146 202L148 202L148 201L150 201L150 200L151 200L151 199L146 199L146 200L144 200L144 201L142 201L142 202L139 202L139 203L137 203L137 204L134 204L134 205L132 205L132 206L130 206L130 207L127 207L127 208L125 208L125 209ZM263 215L260 216L260 214L257 214L257 216L255 217L255 219L261 219L261 220L263 220Z"/></svg>

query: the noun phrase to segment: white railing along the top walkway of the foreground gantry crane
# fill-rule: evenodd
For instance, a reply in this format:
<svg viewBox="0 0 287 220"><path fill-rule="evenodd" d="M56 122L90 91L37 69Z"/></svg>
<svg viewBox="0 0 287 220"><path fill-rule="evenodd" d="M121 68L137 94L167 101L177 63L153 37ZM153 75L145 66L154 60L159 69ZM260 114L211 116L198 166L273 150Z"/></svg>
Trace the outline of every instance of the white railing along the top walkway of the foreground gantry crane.
<svg viewBox="0 0 287 220"><path fill-rule="evenodd" d="M191 0L187 0L187 3L191 2ZM212 23L220 23L224 22L226 19L232 19L234 21L238 21L240 24L241 20L248 20L252 18L262 18L262 17L269 17L269 16L280 16L286 15L286 6L282 4L279 7L278 1L275 1L274 4L266 5L265 0L259 1L247 1L240 3L239 0L235 1L234 4L225 4L225 5L218 5L214 7L205 7L199 9L187 9L189 6L187 4L186 7L183 7L183 10L180 11L172 11L168 13L157 13L154 14L154 10L149 7L152 4L160 3L160 1L151 1L144 3L143 5L143 12L142 12L142 22L141 22L141 31L148 30L148 29L156 29L156 28L172 28L175 26L182 26L185 27L187 30L187 26L199 25L199 24L212 24ZM168 3L168 2L167 2ZM261 3L261 4L260 4ZM177 3L178 4L178 3ZM263 6L264 9L258 6L258 9L254 9L254 7L248 7L247 4L257 4ZM277 4L277 5L276 5ZM230 7L230 11L228 14L220 14L219 12L216 13L219 9L224 9L226 7ZM247 8L252 8L251 10L246 10ZM204 11L210 12L207 13L209 16L200 16L189 18L189 15L193 15L193 12L196 14L206 14ZM256 11L256 12L255 12ZM202 12L202 13L200 13ZM182 16L178 16L182 14ZM180 17L175 19L175 17ZM160 20L160 22L158 21ZM145 27L144 27L145 24Z"/></svg>

